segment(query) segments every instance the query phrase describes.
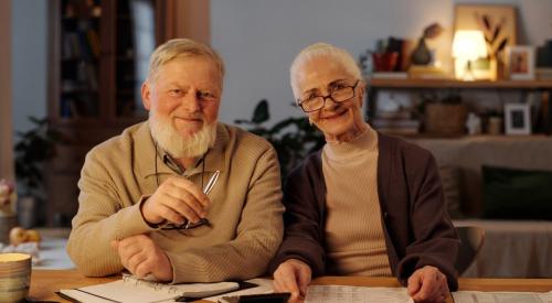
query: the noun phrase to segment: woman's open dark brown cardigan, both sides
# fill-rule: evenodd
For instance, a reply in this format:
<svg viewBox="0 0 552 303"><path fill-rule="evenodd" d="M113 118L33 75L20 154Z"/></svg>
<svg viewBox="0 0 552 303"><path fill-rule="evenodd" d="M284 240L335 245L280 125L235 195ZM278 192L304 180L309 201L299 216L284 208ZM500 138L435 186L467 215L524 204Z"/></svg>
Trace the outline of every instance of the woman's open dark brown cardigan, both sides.
<svg viewBox="0 0 552 303"><path fill-rule="evenodd" d="M405 285L424 266L447 275L458 289L454 260L458 236L446 212L433 155L412 143L379 136L378 195L393 274ZM287 259L308 263L315 277L325 274L326 184L321 151L309 155L288 176L284 190L284 241L270 263L274 272Z"/></svg>

